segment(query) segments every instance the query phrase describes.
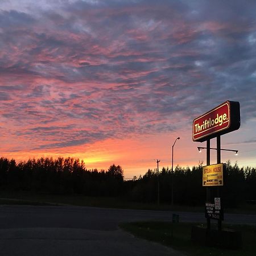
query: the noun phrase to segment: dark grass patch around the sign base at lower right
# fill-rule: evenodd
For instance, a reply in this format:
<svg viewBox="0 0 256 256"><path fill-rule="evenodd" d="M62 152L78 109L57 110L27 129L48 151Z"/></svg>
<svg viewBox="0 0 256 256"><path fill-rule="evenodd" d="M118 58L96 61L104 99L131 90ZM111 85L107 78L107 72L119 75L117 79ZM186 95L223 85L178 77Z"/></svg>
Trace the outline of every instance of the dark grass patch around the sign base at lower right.
<svg viewBox="0 0 256 256"><path fill-rule="evenodd" d="M132 222L123 223L119 226L137 237L162 243L176 250L183 251L188 255L255 256L256 226L226 225L226 228L241 230L243 241L242 249L228 250L193 244L191 242L191 229L193 225L195 225L195 223Z"/></svg>

